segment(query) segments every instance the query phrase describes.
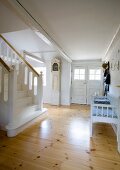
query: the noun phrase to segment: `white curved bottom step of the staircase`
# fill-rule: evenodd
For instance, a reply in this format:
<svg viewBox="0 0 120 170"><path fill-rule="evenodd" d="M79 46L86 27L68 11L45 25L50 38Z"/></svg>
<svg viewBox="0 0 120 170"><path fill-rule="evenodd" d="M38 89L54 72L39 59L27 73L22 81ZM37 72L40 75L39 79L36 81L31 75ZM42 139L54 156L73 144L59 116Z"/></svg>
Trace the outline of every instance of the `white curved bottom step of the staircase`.
<svg viewBox="0 0 120 170"><path fill-rule="evenodd" d="M25 112L24 112L25 114ZM22 114L21 118L20 116L16 118L16 120L8 124L6 126L7 130L7 136L8 137L14 137L18 135L20 132L22 132L24 129L32 125L35 120L39 117L41 120L45 119L47 117L47 109L43 108L42 110L34 111L33 113L30 113L29 115Z"/></svg>

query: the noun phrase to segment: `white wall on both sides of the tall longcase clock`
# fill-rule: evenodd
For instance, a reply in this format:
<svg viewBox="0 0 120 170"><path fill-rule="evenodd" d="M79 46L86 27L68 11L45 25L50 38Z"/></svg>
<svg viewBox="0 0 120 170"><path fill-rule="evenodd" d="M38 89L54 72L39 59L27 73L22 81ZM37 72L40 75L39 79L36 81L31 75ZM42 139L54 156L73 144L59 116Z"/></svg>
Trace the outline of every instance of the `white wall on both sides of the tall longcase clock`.
<svg viewBox="0 0 120 170"><path fill-rule="evenodd" d="M44 103L51 103L51 89L52 89L52 74L51 61L58 54L55 53L51 57L45 57L46 73L46 87L44 87ZM61 105L70 105L70 88L71 88L71 64L65 59L61 58Z"/></svg>

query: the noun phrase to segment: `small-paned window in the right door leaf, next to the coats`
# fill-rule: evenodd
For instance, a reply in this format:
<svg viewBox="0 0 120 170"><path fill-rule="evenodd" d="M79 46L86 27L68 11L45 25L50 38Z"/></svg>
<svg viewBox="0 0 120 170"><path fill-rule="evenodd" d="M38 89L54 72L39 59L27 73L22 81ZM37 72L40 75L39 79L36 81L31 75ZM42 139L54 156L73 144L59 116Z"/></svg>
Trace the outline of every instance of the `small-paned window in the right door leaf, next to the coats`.
<svg viewBox="0 0 120 170"><path fill-rule="evenodd" d="M101 80L101 69L90 69L89 80Z"/></svg>

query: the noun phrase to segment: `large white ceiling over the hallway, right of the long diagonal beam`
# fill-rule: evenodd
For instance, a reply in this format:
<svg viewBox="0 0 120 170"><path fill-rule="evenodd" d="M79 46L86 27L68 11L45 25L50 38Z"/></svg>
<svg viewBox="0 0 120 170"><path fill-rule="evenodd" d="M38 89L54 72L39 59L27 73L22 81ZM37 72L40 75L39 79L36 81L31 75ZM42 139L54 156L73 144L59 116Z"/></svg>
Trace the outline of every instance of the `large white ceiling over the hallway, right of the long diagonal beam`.
<svg viewBox="0 0 120 170"><path fill-rule="evenodd" d="M119 0L19 0L73 60L100 59L120 24Z"/></svg>

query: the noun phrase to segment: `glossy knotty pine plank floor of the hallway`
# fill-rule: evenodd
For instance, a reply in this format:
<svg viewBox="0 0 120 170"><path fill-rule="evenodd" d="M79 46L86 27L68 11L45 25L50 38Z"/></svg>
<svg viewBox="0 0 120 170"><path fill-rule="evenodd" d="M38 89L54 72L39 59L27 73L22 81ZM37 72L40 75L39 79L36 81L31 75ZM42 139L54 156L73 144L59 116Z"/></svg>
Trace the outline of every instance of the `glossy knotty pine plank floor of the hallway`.
<svg viewBox="0 0 120 170"><path fill-rule="evenodd" d="M120 170L111 126L95 124L90 139L88 106L47 107L47 119L17 137L0 132L0 170Z"/></svg>

